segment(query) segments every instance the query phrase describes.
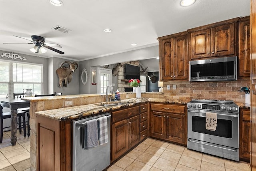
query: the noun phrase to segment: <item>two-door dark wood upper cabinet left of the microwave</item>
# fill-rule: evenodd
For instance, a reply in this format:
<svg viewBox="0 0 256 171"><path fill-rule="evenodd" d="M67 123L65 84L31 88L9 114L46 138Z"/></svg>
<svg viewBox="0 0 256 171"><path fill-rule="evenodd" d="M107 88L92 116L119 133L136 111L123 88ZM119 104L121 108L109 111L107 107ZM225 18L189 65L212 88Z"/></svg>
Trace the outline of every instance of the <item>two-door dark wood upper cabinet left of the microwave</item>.
<svg viewBox="0 0 256 171"><path fill-rule="evenodd" d="M188 79L188 33L158 38L161 80Z"/></svg>

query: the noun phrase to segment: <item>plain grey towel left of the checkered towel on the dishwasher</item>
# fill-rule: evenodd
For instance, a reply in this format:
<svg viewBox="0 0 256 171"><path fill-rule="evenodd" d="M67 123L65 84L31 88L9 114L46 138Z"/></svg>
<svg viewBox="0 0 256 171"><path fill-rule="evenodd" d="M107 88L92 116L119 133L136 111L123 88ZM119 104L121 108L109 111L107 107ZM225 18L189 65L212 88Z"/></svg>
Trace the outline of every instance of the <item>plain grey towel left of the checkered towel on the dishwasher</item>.
<svg viewBox="0 0 256 171"><path fill-rule="evenodd" d="M86 121L87 123L87 149L97 147L99 145L98 139L98 121L92 119Z"/></svg>

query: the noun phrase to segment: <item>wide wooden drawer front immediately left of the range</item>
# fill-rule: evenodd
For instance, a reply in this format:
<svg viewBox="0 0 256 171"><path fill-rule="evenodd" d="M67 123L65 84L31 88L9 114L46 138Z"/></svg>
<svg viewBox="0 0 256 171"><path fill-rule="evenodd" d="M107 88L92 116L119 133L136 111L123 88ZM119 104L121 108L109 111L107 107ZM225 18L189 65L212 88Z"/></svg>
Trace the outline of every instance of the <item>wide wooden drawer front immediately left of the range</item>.
<svg viewBox="0 0 256 171"><path fill-rule="evenodd" d="M163 105L163 104L150 104L151 110L162 111L166 113L185 114L185 106L183 105Z"/></svg>

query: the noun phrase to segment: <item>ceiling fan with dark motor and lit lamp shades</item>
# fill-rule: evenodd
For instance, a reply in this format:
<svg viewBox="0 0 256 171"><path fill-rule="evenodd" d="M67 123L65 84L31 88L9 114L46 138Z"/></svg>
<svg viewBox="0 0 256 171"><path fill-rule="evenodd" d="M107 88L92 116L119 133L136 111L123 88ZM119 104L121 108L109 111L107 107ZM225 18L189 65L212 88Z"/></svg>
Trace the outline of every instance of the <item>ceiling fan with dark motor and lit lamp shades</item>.
<svg viewBox="0 0 256 171"><path fill-rule="evenodd" d="M15 36L15 37L22 38L19 36ZM28 40L26 38L22 38L22 39ZM28 40L28 41L30 41L32 43L4 43L4 44L35 44L35 46L30 49L31 52L44 54L46 52L46 49L44 49L44 48L47 48L47 49L53 50L54 52L57 52L59 54L62 54L62 55L64 54L64 52L51 47L51 46L54 46L54 47L62 48L60 45L53 44L53 43L45 43L45 38L43 38L41 36L32 35L31 39L32 40Z"/></svg>

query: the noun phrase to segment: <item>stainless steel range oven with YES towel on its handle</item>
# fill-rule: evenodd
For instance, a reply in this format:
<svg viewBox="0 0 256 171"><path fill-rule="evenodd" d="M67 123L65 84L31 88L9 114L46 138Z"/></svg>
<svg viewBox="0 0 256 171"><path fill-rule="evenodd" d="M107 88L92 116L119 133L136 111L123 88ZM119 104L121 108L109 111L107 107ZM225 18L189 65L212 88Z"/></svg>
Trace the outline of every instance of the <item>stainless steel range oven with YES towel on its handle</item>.
<svg viewBox="0 0 256 171"><path fill-rule="evenodd" d="M216 113L215 131L206 112ZM188 149L239 161L239 107L233 101L193 99L188 103Z"/></svg>

